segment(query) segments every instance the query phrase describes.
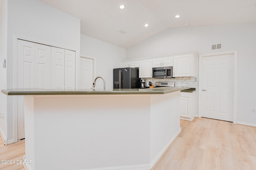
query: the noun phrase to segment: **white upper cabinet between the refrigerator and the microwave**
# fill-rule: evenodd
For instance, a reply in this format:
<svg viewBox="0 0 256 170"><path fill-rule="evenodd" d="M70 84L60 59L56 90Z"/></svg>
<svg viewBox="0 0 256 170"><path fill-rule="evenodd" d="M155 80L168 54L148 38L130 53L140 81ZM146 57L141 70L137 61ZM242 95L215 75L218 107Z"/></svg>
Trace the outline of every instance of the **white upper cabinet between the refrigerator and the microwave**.
<svg viewBox="0 0 256 170"><path fill-rule="evenodd" d="M139 78L152 78L152 60L140 61Z"/></svg>

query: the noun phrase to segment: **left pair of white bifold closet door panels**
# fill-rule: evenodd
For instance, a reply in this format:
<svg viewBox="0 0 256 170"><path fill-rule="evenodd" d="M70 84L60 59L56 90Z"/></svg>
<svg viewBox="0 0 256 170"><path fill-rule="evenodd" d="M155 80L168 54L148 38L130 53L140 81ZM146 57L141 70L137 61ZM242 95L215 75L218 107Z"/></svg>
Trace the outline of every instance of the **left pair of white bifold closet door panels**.
<svg viewBox="0 0 256 170"><path fill-rule="evenodd" d="M50 88L51 47L18 39L17 88ZM25 138L24 96L17 96L18 140Z"/></svg>

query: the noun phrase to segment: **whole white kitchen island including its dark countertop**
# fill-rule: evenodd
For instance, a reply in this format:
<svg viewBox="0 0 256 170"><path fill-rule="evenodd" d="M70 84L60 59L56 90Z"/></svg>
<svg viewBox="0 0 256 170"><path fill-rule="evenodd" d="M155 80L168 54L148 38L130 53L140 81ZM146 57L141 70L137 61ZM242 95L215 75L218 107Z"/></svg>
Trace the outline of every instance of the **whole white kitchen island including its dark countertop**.
<svg viewBox="0 0 256 170"><path fill-rule="evenodd" d="M185 89L2 93L24 95L28 170L150 170L181 131Z"/></svg>

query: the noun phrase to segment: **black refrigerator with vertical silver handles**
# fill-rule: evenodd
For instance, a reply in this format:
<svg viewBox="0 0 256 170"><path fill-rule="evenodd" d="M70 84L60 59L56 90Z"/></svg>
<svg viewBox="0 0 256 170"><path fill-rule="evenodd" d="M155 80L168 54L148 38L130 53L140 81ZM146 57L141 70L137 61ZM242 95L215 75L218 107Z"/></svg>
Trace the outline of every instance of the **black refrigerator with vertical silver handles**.
<svg viewBox="0 0 256 170"><path fill-rule="evenodd" d="M114 68L113 88L140 88L138 68Z"/></svg>

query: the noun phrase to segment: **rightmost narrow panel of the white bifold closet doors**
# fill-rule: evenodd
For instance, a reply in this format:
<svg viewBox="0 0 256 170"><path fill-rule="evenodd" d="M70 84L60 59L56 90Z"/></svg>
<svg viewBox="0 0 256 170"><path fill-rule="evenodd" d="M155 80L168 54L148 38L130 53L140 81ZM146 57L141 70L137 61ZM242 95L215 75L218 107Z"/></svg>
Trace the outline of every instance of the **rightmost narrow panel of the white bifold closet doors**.
<svg viewBox="0 0 256 170"><path fill-rule="evenodd" d="M76 52L65 49L65 88L76 88Z"/></svg>

